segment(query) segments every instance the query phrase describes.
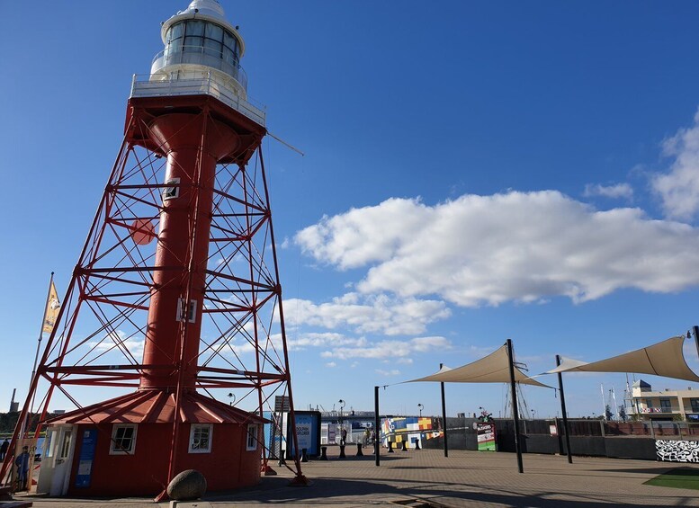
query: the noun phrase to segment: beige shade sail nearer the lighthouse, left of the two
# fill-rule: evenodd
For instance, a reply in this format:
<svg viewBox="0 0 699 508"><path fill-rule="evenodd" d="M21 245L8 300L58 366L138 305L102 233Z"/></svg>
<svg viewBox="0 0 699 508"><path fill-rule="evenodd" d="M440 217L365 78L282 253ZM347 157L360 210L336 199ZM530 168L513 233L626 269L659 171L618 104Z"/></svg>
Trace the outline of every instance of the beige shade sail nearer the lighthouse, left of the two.
<svg viewBox="0 0 699 508"><path fill-rule="evenodd" d="M462 367L457 367L456 369L443 367L435 374L427 376L426 378L411 379L405 382L417 383L420 381L437 381L441 383L509 383L510 370L506 345L503 345L496 352L491 352L488 356L462 365ZM533 385L534 387L551 388L540 383L536 379L530 378L516 367L515 381L524 385Z"/></svg>

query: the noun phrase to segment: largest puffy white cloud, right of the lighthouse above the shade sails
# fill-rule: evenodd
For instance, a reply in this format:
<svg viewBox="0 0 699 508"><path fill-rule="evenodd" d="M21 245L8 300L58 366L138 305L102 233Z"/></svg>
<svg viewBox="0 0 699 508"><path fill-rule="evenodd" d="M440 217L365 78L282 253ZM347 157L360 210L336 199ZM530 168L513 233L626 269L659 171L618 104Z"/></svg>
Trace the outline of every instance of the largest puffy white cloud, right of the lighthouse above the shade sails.
<svg viewBox="0 0 699 508"><path fill-rule="evenodd" d="M432 207L391 199L323 218L295 239L320 262L368 267L357 285L365 295L392 292L407 302L428 295L464 307L557 296L580 302L622 288L673 292L699 283L696 228L651 220L637 208L597 211L555 191L464 195ZM439 303L432 305L445 311ZM351 305L337 307L342 317L303 305L318 324L353 322ZM355 316L363 330L370 312ZM369 330L390 331L369 321Z"/></svg>

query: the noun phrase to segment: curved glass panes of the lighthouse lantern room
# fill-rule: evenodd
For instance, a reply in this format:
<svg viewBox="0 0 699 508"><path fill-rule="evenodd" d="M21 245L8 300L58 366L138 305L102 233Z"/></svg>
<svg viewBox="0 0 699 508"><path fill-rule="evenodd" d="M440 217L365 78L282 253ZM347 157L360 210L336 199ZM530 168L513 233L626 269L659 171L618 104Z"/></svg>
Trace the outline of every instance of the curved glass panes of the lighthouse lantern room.
<svg viewBox="0 0 699 508"><path fill-rule="evenodd" d="M165 62L201 64L237 77L238 42L229 31L212 22L187 20L176 22L167 30Z"/></svg>

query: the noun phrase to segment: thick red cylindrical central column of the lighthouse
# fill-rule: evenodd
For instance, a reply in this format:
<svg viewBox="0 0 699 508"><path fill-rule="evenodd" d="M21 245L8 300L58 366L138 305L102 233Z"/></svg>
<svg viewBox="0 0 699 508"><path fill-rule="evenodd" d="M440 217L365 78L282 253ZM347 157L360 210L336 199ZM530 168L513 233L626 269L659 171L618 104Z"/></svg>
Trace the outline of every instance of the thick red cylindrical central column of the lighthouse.
<svg viewBox="0 0 699 508"><path fill-rule="evenodd" d="M166 113L148 125L149 141L167 156L163 209L143 364L181 361L186 388L194 387L202 329L203 294L216 165L235 152L236 132L211 117ZM203 144L202 144L203 139ZM141 388L175 388L178 372L143 371Z"/></svg>

